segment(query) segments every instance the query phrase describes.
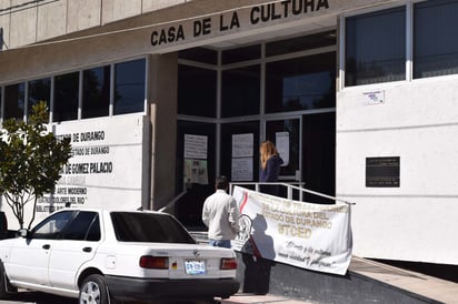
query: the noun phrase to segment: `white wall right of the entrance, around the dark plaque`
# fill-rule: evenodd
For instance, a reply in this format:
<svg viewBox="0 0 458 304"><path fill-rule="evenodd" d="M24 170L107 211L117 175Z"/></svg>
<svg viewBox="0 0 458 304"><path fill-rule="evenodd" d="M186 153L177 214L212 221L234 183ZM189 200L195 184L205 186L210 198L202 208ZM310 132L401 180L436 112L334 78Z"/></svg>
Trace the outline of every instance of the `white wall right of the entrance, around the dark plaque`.
<svg viewBox="0 0 458 304"><path fill-rule="evenodd" d="M364 94L381 90L385 101ZM355 202L354 254L458 264L458 77L337 94L337 196ZM366 158L399 156L399 188L366 188Z"/></svg>

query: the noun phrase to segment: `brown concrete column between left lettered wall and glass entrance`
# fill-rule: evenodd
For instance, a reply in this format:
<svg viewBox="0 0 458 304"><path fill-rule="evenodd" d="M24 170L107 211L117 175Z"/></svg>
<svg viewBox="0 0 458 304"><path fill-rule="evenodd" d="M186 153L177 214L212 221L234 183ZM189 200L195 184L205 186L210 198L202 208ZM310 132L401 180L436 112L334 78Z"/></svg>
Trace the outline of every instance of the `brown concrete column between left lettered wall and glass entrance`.
<svg viewBox="0 0 458 304"><path fill-rule="evenodd" d="M149 62L148 101L152 126L149 209L159 210L175 196L178 54L155 54Z"/></svg>

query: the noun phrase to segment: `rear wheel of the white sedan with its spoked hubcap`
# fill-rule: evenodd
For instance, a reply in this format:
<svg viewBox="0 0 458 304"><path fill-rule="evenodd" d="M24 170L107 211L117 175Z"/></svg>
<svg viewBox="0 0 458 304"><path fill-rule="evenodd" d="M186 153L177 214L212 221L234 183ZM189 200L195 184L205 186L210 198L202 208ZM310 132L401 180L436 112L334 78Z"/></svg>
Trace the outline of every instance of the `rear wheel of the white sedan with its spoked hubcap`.
<svg viewBox="0 0 458 304"><path fill-rule="evenodd" d="M79 304L112 304L107 283L100 274L84 278L80 287Z"/></svg>

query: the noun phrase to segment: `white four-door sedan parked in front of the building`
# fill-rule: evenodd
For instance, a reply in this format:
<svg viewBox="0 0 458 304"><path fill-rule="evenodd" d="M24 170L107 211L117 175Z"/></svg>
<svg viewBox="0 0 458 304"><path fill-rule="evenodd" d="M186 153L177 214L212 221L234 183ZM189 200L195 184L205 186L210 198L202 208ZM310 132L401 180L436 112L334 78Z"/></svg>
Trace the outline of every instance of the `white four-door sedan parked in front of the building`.
<svg viewBox="0 0 458 304"><path fill-rule="evenodd" d="M209 301L238 292L236 253L197 244L171 215L63 209L0 241L0 298L26 288L79 298Z"/></svg>

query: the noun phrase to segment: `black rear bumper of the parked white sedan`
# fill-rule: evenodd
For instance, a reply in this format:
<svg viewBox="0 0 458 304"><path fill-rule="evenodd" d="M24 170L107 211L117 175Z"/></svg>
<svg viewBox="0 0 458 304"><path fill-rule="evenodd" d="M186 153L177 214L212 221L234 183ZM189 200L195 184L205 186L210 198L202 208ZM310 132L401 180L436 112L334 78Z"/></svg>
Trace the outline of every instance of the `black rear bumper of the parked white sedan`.
<svg viewBox="0 0 458 304"><path fill-rule="evenodd" d="M117 301L227 298L237 293L235 278L157 280L107 276L110 295Z"/></svg>

